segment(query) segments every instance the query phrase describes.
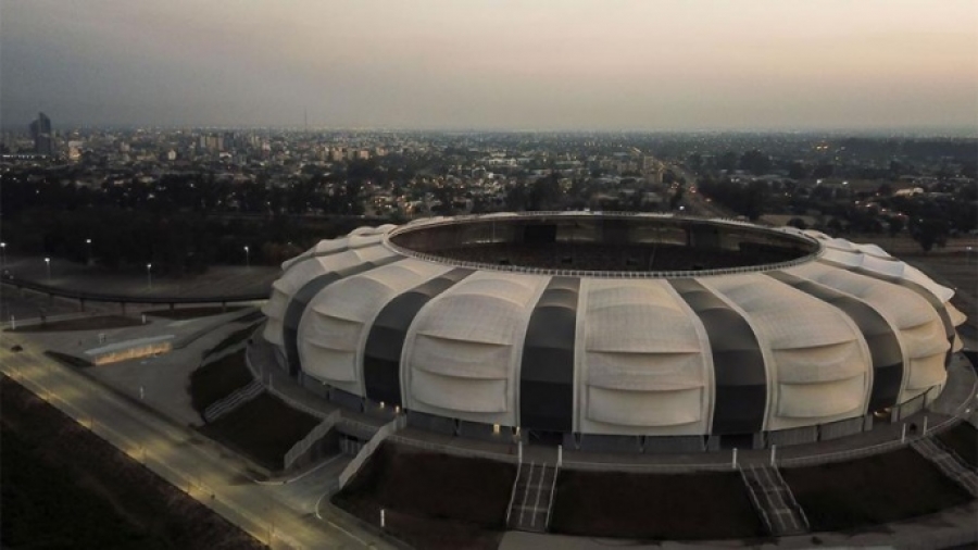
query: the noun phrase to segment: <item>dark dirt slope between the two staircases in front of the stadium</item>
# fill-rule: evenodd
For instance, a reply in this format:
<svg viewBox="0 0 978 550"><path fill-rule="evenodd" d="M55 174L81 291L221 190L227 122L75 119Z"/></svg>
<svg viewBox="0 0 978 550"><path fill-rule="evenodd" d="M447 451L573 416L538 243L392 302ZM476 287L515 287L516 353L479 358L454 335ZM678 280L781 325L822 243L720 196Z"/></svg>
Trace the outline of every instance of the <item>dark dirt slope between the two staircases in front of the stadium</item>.
<svg viewBox="0 0 978 550"><path fill-rule="evenodd" d="M766 535L735 472L627 474L565 470L557 478L551 530L642 540L755 538Z"/></svg>

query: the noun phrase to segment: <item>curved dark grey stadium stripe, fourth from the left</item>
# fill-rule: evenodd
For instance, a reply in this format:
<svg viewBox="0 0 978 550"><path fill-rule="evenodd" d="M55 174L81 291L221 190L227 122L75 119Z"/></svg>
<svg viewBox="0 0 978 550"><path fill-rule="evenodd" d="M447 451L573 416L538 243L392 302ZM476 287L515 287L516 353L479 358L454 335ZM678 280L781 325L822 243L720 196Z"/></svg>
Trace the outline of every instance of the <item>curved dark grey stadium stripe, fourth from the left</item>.
<svg viewBox="0 0 978 550"><path fill-rule="evenodd" d="M710 339L716 384L712 433L761 432L767 408L767 371L754 330L698 280L669 284L703 322Z"/></svg>

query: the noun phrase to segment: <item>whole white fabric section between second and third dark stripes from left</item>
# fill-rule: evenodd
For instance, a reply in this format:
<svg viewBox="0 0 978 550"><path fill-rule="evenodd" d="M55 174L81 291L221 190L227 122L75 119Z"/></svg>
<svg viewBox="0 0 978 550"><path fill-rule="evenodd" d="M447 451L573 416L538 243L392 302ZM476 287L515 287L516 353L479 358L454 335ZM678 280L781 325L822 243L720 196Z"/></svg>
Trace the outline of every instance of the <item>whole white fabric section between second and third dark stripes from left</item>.
<svg viewBox="0 0 978 550"><path fill-rule="evenodd" d="M526 325L549 280L476 272L422 308L401 358L402 379L412 389L404 396L405 407L515 426ZM429 383L437 388L426 387ZM455 393L439 397L446 388Z"/></svg>

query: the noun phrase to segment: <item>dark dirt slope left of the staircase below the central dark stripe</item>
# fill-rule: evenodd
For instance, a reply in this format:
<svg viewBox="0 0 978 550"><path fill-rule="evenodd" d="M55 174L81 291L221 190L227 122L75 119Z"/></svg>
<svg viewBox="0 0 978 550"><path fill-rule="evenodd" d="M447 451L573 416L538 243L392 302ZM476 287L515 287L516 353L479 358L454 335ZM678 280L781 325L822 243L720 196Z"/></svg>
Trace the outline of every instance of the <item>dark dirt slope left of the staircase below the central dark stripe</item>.
<svg viewBox="0 0 978 550"><path fill-rule="evenodd" d="M385 443L333 502L416 548L499 546L516 466Z"/></svg>

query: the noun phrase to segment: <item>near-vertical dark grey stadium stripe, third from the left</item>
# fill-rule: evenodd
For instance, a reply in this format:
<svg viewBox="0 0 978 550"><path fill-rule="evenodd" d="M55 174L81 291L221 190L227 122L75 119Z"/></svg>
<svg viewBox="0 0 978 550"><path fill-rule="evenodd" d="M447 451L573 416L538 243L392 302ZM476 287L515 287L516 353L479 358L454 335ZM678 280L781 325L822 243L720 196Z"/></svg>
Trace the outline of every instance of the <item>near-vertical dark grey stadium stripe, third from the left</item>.
<svg viewBox="0 0 978 550"><path fill-rule="evenodd" d="M580 279L550 279L530 314L519 370L519 425L524 429L573 429L579 289Z"/></svg>

